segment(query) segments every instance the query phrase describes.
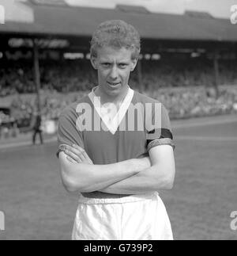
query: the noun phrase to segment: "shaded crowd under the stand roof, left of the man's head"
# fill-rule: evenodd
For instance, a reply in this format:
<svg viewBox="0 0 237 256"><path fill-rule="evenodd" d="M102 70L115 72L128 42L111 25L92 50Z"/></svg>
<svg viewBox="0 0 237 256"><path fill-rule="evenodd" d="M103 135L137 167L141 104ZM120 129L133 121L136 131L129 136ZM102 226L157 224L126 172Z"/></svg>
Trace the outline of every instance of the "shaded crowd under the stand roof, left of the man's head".
<svg viewBox="0 0 237 256"><path fill-rule="evenodd" d="M41 89L69 93L85 91L96 82L96 72L85 60L42 63L40 66ZM13 94L36 93L32 63L0 66L0 97Z"/></svg>

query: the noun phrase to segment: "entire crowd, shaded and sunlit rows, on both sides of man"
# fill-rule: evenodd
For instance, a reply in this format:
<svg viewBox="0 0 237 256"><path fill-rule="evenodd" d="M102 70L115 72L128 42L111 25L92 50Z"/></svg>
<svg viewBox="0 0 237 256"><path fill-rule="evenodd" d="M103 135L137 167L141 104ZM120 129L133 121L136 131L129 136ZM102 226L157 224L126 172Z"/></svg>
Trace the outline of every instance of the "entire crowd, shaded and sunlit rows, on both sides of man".
<svg viewBox="0 0 237 256"><path fill-rule="evenodd" d="M36 90L32 63L0 67L1 98L9 97L10 117L0 111L0 126L16 120L19 128L30 123L36 110ZM137 71L130 86L162 102L171 119L237 113L237 65L220 62L220 94L213 89L215 76L212 63L196 61L141 61L142 81L138 86ZM88 60L45 63L40 66L41 109L43 120L57 120L62 109L88 94L96 86L96 71Z"/></svg>

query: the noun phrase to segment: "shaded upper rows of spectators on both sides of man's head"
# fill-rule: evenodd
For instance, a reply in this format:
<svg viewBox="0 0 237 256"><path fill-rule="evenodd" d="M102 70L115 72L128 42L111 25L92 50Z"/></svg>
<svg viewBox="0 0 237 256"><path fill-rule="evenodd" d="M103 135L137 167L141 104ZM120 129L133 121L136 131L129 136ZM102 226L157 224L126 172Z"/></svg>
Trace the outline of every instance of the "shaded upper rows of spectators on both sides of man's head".
<svg viewBox="0 0 237 256"><path fill-rule="evenodd" d="M237 60L220 60L219 71L220 85L237 84ZM140 90L213 86L215 83L213 60L209 59L143 59L141 73ZM41 63L40 76L43 90L64 94L87 91L96 85L96 71L88 59ZM137 71L132 73L130 84L137 87ZM35 92L32 63L0 66L0 97Z"/></svg>

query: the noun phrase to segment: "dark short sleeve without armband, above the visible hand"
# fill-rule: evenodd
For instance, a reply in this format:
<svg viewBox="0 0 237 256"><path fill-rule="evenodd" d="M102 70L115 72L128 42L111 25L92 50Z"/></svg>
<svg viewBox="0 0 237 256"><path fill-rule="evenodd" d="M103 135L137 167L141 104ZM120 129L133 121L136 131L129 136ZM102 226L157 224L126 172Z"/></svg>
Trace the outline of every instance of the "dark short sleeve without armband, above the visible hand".
<svg viewBox="0 0 237 256"><path fill-rule="evenodd" d="M77 115L76 113L62 113L58 120L58 151L57 157L60 153L59 146L62 144L72 145L77 144L84 148L82 139L82 132L77 129Z"/></svg>

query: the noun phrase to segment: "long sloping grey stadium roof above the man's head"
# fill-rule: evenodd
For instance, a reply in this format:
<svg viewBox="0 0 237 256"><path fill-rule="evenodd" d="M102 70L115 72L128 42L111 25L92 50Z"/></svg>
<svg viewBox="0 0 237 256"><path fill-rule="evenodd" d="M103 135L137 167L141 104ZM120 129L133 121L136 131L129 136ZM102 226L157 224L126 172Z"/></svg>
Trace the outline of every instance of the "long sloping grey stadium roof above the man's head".
<svg viewBox="0 0 237 256"><path fill-rule="evenodd" d="M134 25L141 37L154 40L209 40L237 42L237 25L229 20L209 15L174 15L151 13L139 6L117 6L114 10L45 6L28 2L34 12L33 23L6 22L0 33L34 34L49 36L91 36L100 22L122 19Z"/></svg>

